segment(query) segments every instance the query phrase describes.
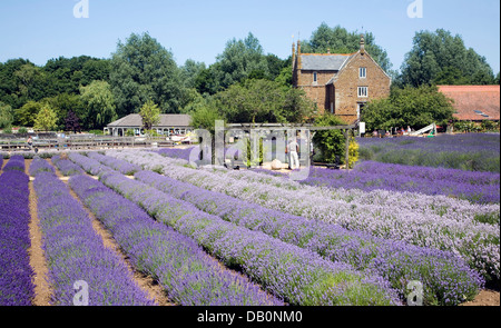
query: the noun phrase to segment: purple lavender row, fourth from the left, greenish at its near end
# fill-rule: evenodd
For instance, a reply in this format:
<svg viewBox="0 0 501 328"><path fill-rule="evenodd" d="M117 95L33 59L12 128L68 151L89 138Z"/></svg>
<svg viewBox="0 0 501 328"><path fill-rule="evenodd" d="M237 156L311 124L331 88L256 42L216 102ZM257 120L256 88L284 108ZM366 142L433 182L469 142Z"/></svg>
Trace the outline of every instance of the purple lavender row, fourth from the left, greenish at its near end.
<svg viewBox="0 0 501 328"><path fill-rule="evenodd" d="M382 277L362 275L350 265L238 227L137 180L116 173L105 173L101 180L292 305L400 304Z"/></svg>

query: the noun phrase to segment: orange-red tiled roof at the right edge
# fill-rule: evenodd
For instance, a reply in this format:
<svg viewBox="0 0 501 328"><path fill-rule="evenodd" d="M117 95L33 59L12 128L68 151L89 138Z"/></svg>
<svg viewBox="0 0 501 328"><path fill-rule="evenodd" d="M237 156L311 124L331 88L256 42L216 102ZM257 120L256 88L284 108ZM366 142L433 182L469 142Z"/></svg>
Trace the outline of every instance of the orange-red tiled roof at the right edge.
<svg viewBox="0 0 501 328"><path fill-rule="evenodd" d="M459 120L500 119L500 86L439 86L439 91L454 100Z"/></svg>

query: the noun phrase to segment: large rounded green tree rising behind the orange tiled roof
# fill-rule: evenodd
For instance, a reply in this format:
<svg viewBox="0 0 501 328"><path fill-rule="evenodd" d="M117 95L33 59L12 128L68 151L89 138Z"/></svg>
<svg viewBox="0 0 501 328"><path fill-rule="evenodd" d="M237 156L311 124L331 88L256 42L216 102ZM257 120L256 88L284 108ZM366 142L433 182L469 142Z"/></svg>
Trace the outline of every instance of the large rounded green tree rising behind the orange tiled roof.
<svg viewBox="0 0 501 328"><path fill-rule="evenodd" d="M443 79L450 81L450 78L468 85L490 85L494 81L485 58L471 48L466 49L460 36L453 37L443 29L416 32L401 71L403 83L413 87Z"/></svg>

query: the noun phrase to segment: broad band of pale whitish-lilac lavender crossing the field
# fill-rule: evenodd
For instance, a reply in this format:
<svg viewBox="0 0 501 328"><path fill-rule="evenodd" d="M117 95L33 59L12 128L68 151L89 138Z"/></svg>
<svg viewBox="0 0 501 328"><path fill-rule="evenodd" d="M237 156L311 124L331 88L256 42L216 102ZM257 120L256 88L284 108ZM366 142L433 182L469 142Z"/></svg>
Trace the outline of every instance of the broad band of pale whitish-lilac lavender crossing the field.
<svg viewBox="0 0 501 328"><path fill-rule="evenodd" d="M488 281L499 284L499 226L475 220L479 216L499 216L498 206L411 192L332 190L248 171L195 170L153 152L108 155L265 208L383 239L451 251L463 257Z"/></svg>

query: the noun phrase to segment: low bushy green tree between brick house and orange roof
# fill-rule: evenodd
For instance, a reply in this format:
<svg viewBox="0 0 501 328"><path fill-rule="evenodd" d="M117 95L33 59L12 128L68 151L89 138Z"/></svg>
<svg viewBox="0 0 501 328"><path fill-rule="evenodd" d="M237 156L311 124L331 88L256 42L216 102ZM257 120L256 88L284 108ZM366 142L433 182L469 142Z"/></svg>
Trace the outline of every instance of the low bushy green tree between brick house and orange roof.
<svg viewBox="0 0 501 328"><path fill-rule="evenodd" d="M391 128L422 129L433 122L448 125L453 119L452 100L435 86L394 88L389 98L373 100L364 108L367 130Z"/></svg>

